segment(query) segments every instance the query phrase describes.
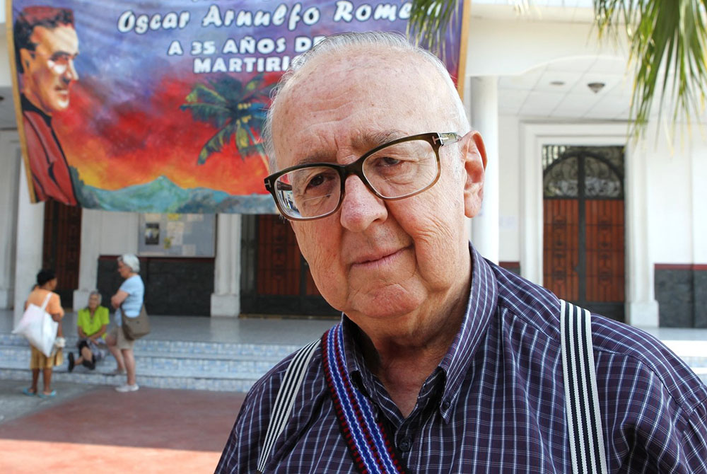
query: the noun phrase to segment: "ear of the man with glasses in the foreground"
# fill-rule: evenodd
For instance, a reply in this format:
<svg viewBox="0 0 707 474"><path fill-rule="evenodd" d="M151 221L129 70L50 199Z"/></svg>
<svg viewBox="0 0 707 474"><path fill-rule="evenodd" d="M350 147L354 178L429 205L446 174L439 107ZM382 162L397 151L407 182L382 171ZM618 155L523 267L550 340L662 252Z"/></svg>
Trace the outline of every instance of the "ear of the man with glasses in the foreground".
<svg viewBox="0 0 707 474"><path fill-rule="evenodd" d="M486 146L476 130L462 137L464 164L464 214L471 218L479 214L484 198L484 171L486 170Z"/></svg>

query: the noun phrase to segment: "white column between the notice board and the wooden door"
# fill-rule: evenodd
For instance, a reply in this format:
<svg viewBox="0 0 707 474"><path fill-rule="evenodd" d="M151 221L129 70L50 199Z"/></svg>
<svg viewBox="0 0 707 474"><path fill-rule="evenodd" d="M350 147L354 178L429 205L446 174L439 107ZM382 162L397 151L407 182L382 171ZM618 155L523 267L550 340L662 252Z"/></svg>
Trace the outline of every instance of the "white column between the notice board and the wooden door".
<svg viewBox="0 0 707 474"><path fill-rule="evenodd" d="M218 214L211 316L240 314L240 214Z"/></svg>

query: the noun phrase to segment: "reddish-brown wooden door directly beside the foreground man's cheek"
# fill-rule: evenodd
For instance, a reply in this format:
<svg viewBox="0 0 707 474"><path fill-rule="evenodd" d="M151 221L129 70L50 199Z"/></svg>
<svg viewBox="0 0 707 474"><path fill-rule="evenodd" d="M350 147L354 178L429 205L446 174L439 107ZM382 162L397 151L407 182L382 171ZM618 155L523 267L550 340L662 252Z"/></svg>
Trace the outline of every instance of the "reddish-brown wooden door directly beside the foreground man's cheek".
<svg viewBox="0 0 707 474"><path fill-rule="evenodd" d="M279 216L243 216L243 313L336 316L321 296L290 224Z"/></svg>

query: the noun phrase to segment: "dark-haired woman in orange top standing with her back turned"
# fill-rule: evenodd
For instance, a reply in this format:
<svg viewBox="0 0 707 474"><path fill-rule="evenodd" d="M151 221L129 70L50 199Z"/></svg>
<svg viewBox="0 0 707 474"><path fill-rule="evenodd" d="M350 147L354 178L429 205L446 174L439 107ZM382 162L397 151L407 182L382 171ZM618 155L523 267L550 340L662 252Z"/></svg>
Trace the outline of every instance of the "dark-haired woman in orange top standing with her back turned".
<svg viewBox="0 0 707 474"><path fill-rule="evenodd" d="M62 333L62 318L64 317L64 309L59 295L54 293L57 288L57 276L54 270L41 270L37 273L37 285L34 287L30 296L25 302L25 310L30 304L42 306L45 299L49 299L45 311L52 316L52 319L59 323L57 328L57 340L63 336ZM32 386L25 388L25 395L39 395L40 398L49 398L57 395L57 391L52 390L52 370L55 366L61 365L64 362L62 348L54 343L54 352L47 357L42 354L39 349L34 346L32 348L32 356L30 358L30 369L32 369ZM37 391L37 383L40 378L40 370L42 371L42 379L44 381L44 390L40 393Z"/></svg>

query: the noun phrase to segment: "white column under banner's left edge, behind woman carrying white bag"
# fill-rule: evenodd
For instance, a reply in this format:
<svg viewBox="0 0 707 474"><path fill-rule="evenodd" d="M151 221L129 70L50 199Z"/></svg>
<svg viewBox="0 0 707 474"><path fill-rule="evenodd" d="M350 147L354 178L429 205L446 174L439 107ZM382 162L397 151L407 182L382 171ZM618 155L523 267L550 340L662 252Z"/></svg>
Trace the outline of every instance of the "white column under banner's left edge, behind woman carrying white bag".
<svg viewBox="0 0 707 474"><path fill-rule="evenodd" d="M25 163L20 175L25 177ZM27 180L20 180L17 204L17 250L15 253L15 296L13 327L20 320L25 301L37 282L37 272L42 269L42 243L44 241L44 203L32 204Z"/></svg>

